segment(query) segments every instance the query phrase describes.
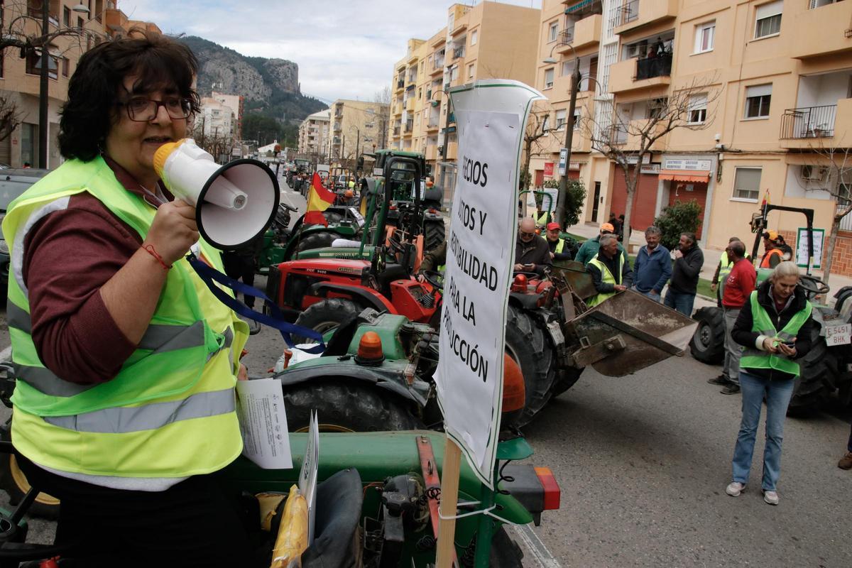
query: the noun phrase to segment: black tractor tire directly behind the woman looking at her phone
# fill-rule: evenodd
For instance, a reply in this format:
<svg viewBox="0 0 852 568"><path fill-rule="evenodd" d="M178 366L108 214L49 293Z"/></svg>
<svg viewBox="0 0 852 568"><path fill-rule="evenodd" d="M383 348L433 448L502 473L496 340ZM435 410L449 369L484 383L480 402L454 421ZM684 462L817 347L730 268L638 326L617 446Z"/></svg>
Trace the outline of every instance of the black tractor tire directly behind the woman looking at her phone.
<svg viewBox="0 0 852 568"><path fill-rule="evenodd" d="M790 416L809 416L820 410L838 384L838 359L820 336L819 325L814 325L807 355L799 359L799 376L793 396L787 407Z"/></svg>

